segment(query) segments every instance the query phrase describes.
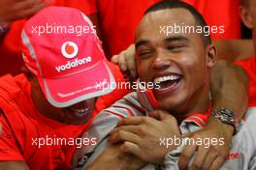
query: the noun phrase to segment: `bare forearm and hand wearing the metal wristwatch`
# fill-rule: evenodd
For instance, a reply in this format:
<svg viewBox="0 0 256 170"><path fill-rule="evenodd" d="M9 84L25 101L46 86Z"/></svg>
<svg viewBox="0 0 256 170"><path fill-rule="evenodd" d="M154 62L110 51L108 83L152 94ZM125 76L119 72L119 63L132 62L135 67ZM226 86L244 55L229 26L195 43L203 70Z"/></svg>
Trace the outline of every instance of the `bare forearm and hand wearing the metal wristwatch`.
<svg viewBox="0 0 256 170"><path fill-rule="evenodd" d="M240 120L247 109L248 78L244 71L236 65L219 61L211 75L212 110L218 108L231 108ZM210 116L208 125L192 134L192 138L224 138L223 146L186 146L179 158L179 167L184 169L190 157L197 149L198 153L190 166L193 168L203 167L218 169L229 154L234 128L223 124L213 116ZM215 157L215 158L214 158Z"/></svg>

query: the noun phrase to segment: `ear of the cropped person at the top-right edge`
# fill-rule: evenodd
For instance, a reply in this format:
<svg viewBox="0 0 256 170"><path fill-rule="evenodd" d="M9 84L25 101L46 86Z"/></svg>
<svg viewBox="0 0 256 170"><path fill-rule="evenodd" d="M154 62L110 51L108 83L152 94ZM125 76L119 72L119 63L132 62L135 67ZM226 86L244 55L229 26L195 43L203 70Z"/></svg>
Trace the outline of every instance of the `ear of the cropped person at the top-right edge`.
<svg viewBox="0 0 256 170"><path fill-rule="evenodd" d="M252 14L249 7L240 6L240 19L242 20L243 24L252 29Z"/></svg>

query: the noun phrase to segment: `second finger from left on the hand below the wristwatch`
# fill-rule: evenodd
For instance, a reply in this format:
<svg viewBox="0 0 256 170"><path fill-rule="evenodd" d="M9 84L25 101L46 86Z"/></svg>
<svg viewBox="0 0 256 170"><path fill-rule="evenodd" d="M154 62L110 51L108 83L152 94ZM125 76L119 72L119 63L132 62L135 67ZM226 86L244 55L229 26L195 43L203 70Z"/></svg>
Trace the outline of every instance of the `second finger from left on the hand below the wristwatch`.
<svg viewBox="0 0 256 170"><path fill-rule="evenodd" d="M195 154L195 159L189 169L200 169L207 156L208 149L206 149L205 147L199 147L197 153Z"/></svg>

